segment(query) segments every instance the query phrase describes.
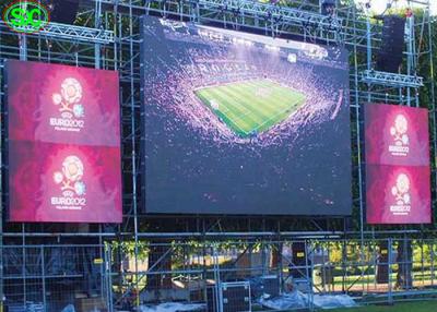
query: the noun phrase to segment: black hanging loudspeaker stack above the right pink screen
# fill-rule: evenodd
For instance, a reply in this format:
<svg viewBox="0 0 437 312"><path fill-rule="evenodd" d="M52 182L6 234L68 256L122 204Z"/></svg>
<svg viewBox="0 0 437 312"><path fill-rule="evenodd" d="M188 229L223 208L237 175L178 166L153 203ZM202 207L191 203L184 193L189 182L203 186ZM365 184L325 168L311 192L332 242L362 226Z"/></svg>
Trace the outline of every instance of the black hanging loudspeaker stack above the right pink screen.
<svg viewBox="0 0 437 312"><path fill-rule="evenodd" d="M398 15L383 16L382 46L377 55L377 70L397 73L402 63L405 19Z"/></svg>

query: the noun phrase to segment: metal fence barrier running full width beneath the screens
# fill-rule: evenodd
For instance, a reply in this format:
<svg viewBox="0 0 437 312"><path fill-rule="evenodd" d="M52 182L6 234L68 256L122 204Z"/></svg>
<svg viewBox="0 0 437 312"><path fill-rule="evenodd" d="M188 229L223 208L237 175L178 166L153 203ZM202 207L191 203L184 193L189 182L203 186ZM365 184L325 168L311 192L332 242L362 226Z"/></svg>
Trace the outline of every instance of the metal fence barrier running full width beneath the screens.
<svg viewBox="0 0 437 312"><path fill-rule="evenodd" d="M160 302L262 311L269 296L291 293L304 305L295 308L309 310L327 295L349 295L358 304L437 298L437 240L167 238L140 241L137 256L130 241L3 245L1 255L10 312L62 311L69 304L75 311L129 311Z"/></svg>

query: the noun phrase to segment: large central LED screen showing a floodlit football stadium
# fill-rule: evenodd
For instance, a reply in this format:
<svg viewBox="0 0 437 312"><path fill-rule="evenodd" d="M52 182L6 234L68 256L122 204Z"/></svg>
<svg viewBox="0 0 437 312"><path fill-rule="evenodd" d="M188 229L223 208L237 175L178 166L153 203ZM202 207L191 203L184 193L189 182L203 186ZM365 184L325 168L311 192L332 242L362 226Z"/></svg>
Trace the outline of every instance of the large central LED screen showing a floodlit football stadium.
<svg viewBox="0 0 437 312"><path fill-rule="evenodd" d="M349 215L347 52L143 17L151 214Z"/></svg>

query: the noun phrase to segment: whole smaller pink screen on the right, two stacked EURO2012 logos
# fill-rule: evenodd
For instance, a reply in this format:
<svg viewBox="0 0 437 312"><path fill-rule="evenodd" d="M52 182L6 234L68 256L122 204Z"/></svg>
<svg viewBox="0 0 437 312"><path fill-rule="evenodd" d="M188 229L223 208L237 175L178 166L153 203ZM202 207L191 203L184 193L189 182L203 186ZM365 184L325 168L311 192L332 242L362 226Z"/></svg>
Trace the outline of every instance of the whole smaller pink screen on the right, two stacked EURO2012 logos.
<svg viewBox="0 0 437 312"><path fill-rule="evenodd" d="M367 104L365 137L367 223L430 223L427 109Z"/></svg>

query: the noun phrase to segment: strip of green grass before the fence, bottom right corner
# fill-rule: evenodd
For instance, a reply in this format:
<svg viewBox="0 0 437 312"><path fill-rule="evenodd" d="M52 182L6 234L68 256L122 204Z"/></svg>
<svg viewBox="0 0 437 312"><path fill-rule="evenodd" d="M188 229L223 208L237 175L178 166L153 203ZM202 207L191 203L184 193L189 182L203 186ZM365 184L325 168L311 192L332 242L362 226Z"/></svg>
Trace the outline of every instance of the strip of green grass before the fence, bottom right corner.
<svg viewBox="0 0 437 312"><path fill-rule="evenodd" d="M434 312L437 311L437 301L417 301L397 303L394 305L368 305L351 309L323 310L329 312Z"/></svg>

